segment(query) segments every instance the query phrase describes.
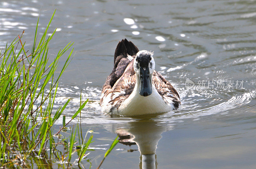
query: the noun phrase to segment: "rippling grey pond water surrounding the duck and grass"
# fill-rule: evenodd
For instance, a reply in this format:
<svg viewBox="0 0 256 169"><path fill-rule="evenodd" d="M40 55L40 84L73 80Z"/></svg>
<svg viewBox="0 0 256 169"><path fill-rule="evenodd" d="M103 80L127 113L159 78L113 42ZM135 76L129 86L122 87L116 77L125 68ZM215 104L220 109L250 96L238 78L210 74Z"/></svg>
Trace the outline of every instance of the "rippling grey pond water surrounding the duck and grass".
<svg viewBox="0 0 256 169"><path fill-rule="evenodd" d="M96 132L92 146L101 148L88 156L92 168L117 135L123 144L103 168L256 167L256 1L1 1L1 48L23 29L31 46L39 12L43 32L55 8L50 60L69 41L76 51L56 107L71 99L68 120L79 107L81 89L82 99L90 99L81 127ZM182 110L137 118L101 112L101 87L124 38L154 51L156 70L177 89ZM185 88L186 80L195 87Z"/></svg>

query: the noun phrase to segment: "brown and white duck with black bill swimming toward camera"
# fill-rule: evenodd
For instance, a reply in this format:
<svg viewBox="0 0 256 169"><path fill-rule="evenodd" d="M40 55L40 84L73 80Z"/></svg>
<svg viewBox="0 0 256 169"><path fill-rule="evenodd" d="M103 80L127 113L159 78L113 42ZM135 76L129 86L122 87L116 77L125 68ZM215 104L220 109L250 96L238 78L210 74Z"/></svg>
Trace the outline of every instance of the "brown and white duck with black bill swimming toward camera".
<svg viewBox="0 0 256 169"><path fill-rule="evenodd" d="M116 46L114 68L102 87L100 106L106 114L140 116L181 109L180 96L155 70L154 52L127 39Z"/></svg>

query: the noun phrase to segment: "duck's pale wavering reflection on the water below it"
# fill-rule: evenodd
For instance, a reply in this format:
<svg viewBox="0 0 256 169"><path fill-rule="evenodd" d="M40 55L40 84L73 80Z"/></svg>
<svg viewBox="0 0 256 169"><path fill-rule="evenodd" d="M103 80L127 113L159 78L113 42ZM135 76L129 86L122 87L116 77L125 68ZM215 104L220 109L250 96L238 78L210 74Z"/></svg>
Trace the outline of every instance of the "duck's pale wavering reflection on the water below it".
<svg viewBox="0 0 256 169"><path fill-rule="evenodd" d="M126 126L126 125L125 125ZM137 144L140 151L139 167L143 169L157 168L156 146L164 131L172 130L172 126L152 119L140 119L128 122L127 127L117 128L119 142L125 145Z"/></svg>

